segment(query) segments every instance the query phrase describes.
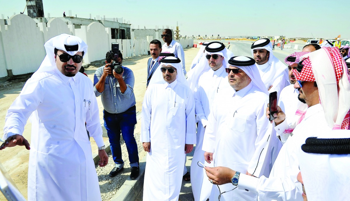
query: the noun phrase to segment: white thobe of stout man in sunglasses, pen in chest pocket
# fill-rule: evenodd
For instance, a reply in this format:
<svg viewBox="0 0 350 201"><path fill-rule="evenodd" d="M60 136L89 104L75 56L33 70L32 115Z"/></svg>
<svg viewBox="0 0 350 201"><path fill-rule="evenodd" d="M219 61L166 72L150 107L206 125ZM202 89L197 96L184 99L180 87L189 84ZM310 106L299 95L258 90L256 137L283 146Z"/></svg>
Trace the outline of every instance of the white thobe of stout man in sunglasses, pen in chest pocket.
<svg viewBox="0 0 350 201"><path fill-rule="evenodd" d="M272 125L265 116L268 96L250 83L237 92L231 87L215 97L204 133L202 149L214 152L215 166L224 166L260 177L269 173L269 136ZM232 184L220 185L221 192ZM213 186L209 200L217 200ZM253 192L235 189L221 195L221 200L254 200Z"/></svg>

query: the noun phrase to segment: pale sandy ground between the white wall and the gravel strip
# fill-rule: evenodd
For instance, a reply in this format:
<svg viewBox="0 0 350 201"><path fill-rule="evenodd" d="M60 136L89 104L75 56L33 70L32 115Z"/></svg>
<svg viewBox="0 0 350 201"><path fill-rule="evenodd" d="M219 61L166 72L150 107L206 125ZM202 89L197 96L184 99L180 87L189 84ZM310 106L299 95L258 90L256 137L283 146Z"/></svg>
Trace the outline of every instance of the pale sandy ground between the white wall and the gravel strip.
<svg viewBox="0 0 350 201"><path fill-rule="evenodd" d="M196 56L199 49L190 48L185 49L185 61L186 61L186 70L189 71L191 62L193 58ZM142 101L144 99L144 94L146 90L146 79L147 79L147 61L150 58L148 55L137 56L125 58L123 60L123 66L130 68L134 72L135 76L135 85L134 85L134 93L136 98L136 110L141 111ZM102 66L90 66L85 69L85 73L89 76L91 80L93 80L93 75L95 70ZM0 128L3 128L5 125L5 116L7 113L7 109L12 104L14 99L18 97L21 92L23 85L25 84L27 79L15 80L5 83L0 83ZM101 103L100 97L97 97L99 111L100 111L100 119L103 118L103 106ZM101 121L103 122L103 121ZM23 132L23 136L30 143L30 132L31 132L31 123L27 122L25 126L25 131ZM135 129L135 133L140 132L140 125L138 125ZM0 133L0 137L2 137L3 131ZM104 137L104 141L107 142L108 139ZM138 141L138 139L137 139ZM140 142L138 142L140 143ZM97 152L97 146L91 138L91 147L93 153ZM142 158L145 154L140 153L140 158ZM123 159L127 158L127 155L123 156ZM20 192L27 198L27 177L28 177L28 159L29 159L29 151L22 146L16 146L12 148L6 148L0 151L0 162L4 166L4 168L8 171L11 178L14 180L14 183L20 190ZM109 170L110 171L110 170ZM5 200L4 196L0 194L0 200Z"/></svg>

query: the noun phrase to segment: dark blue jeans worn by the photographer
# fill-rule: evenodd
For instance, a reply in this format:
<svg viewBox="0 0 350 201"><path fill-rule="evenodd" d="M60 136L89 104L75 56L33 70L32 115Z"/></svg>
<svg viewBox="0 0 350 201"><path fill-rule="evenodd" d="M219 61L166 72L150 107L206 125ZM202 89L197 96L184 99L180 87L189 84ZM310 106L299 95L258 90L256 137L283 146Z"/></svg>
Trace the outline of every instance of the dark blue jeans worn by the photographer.
<svg viewBox="0 0 350 201"><path fill-rule="evenodd" d="M130 166L139 166L139 154L134 137L134 126L137 123L135 110L135 106L117 114L103 110L104 126L110 141L113 161L117 165L120 164L120 166L124 165L121 157L120 133L123 136L129 154Z"/></svg>

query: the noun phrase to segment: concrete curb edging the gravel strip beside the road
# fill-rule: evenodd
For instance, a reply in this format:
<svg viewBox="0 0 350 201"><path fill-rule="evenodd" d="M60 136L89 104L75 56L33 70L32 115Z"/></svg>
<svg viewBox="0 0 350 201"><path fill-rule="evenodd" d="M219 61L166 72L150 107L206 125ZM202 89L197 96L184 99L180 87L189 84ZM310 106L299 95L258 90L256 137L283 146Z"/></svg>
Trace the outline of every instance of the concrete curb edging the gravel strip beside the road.
<svg viewBox="0 0 350 201"><path fill-rule="evenodd" d="M144 187L146 157L147 155L140 161L139 177L135 180L127 178L124 184L119 188L118 192L111 199L112 201L131 201L137 198L138 194Z"/></svg>

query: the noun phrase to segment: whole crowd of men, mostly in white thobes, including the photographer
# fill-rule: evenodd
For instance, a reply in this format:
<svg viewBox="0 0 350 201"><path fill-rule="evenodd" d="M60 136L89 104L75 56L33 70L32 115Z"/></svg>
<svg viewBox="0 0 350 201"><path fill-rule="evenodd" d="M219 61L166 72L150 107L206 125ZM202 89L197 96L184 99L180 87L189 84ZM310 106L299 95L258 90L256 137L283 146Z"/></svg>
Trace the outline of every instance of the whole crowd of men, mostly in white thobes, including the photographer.
<svg viewBox="0 0 350 201"><path fill-rule="evenodd" d="M182 179L191 181L195 201L348 199L349 46L306 45L285 58L287 67L267 38L252 43L252 58L233 55L221 42L203 43L186 72L172 31L161 37L164 45L149 44L142 103L143 200L178 200ZM109 176L124 170L120 135L130 178L139 176L133 72L121 66L120 52L109 51L92 83L79 73L87 51L82 39L62 34L44 46L42 64L8 110L0 150L30 149L28 200L101 200L87 136L105 166L97 96L114 161ZM271 92L278 97L273 121ZM29 117L30 147L22 136ZM189 174L186 154L194 145Z"/></svg>

